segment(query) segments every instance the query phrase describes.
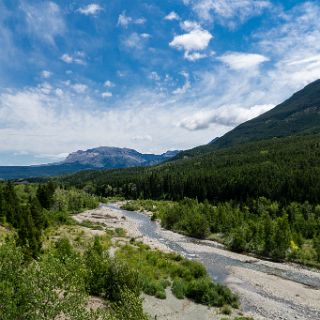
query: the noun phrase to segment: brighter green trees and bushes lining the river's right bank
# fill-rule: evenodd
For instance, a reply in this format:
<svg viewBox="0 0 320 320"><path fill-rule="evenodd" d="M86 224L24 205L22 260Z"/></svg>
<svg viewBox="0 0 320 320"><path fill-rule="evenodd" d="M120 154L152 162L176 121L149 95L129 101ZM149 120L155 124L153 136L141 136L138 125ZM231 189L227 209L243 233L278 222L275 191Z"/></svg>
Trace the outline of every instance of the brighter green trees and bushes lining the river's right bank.
<svg viewBox="0 0 320 320"><path fill-rule="evenodd" d="M213 239L237 252L251 252L274 260L291 260L320 267L320 206L286 206L259 198L242 205L212 205L185 199L180 202L137 200L127 210L154 212L161 225L200 239Z"/></svg>

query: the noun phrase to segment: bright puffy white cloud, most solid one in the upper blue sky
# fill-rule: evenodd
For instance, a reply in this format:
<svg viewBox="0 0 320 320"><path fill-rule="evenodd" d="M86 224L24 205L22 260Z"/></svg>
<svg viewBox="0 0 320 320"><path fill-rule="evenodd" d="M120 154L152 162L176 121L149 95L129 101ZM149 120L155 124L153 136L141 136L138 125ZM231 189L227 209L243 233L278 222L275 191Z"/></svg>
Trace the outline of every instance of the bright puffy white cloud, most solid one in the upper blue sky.
<svg viewBox="0 0 320 320"><path fill-rule="evenodd" d="M170 47L184 50L184 57L187 60L195 61L205 57L199 51L205 50L213 38L212 34L202 28L196 28L189 33L175 36L169 43Z"/></svg>

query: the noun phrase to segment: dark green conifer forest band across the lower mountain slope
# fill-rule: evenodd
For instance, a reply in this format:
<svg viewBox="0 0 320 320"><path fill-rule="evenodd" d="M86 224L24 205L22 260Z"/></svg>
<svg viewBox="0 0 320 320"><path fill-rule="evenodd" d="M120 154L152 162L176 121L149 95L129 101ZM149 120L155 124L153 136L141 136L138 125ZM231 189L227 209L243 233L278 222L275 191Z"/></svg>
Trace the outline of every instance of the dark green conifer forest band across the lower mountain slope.
<svg viewBox="0 0 320 320"><path fill-rule="evenodd" d="M264 196L320 203L320 135L235 146L151 167L87 171L62 179L101 196L245 202Z"/></svg>

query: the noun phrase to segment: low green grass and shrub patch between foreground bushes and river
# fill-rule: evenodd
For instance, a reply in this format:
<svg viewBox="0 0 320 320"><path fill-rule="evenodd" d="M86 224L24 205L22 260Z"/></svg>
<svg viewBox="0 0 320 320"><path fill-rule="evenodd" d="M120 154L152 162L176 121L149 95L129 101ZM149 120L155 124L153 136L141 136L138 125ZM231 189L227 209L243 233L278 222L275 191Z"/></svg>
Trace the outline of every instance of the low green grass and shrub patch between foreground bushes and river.
<svg viewBox="0 0 320 320"><path fill-rule="evenodd" d="M116 257L139 272L146 294L164 299L165 289L170 286L178 299L187 297L209 306L238 307L237 297L227 287L213 283L198 262L174 253L151 250L141 242L120 247Z"/></svg>

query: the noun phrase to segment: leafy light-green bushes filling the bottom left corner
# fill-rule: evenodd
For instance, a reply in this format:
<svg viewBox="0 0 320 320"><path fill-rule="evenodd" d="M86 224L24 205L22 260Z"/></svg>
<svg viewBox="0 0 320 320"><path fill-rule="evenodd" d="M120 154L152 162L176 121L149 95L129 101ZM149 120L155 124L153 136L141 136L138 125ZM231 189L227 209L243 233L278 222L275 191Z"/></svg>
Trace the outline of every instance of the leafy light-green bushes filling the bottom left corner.
<svg viewBox="0 0 320 320"><path fill-rule="evenodd" d="M0 293L2 320L148 319L137 272L109 258L98 240L80 254L60 239L32 261L8 240L0 246ZM90 295L101 301L90 303Z"/></svg>

